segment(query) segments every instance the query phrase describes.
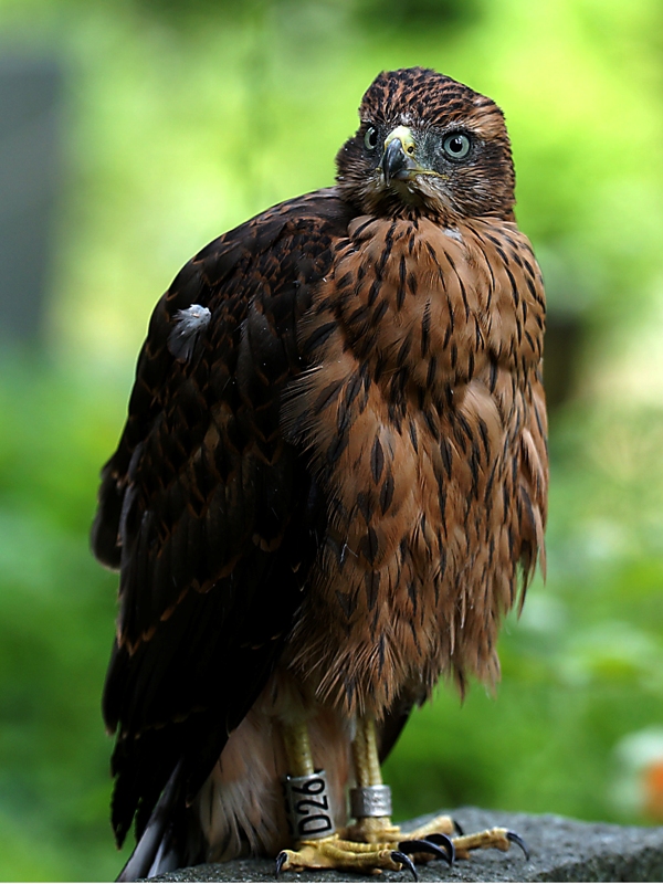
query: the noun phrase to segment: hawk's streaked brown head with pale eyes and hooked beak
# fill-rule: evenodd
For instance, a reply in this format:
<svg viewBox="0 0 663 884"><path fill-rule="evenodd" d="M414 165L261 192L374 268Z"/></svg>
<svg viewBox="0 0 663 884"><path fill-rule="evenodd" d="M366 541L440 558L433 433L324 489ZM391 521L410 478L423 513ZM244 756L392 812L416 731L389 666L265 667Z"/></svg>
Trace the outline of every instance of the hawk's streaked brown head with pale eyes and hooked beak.
<svg viewBox="0 0 663 884"><path fill-rule="evenodd" d="M360 126L336 157L343 196L360 211L448 220L513 218L514 166L504 115L435 71L382 72Z"/></svg>

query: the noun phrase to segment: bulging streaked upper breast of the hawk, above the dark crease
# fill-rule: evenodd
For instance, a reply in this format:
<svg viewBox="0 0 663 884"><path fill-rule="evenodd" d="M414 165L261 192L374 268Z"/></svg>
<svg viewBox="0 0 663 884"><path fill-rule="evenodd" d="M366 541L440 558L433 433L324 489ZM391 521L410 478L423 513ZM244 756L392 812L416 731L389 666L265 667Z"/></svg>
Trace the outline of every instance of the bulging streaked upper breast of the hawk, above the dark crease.
<svg viewBox="0 0 663 884"><path fill-rule="evenodd" d="M514 224L358 219L349 234L309 323L333 317L386 399L440 400L490 360L518 370L540 358L538 269Z"/></svg>

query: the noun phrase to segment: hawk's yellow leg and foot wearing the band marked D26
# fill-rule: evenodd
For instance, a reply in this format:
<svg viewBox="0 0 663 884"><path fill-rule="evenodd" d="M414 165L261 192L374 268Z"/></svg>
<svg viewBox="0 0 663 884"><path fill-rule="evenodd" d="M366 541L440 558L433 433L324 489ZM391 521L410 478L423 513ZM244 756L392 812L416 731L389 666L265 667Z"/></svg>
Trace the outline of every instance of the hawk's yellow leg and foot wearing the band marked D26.
<svg viewBox="0 0 663 884"><path fill-rule="evenodd" d="M287 869L391 869L397 872L406 865L417 876L410 857L390 838L398 834L398 829L391 827L388 818L381 830L385 840L380 843L376 843L379 839L371 843L365 839L348 840L335 832L325 771L315 769L307 725L304 722L283 725L282 733L292 771L285 779L285 792L296 849L281 851L276 857L276 873ZM446 852L438 845L429 846L429 853L448 859Z"/></svg>

